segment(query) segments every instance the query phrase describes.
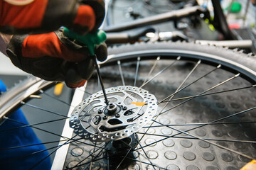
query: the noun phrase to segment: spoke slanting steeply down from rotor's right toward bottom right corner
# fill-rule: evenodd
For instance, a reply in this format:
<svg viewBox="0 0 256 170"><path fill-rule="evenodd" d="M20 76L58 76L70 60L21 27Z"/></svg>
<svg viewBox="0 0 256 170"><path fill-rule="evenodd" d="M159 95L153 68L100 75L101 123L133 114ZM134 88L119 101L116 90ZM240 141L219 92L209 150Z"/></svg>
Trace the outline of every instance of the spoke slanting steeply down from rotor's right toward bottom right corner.
<svg viewBox="0 0 256 170"><path fill-rule="evenodd" d="M156 122L156 121L155 121L155 122ZM156 123L159 123L159 122L156 122ZM161 123L159 123L159 124L162 125ZM171 128L171 127L169 127L169 128ZM197 137L197 136L195 136L195 135L191 135L191 134L189 134L188 132L184 132L184 131L178 130L178 129L176 129L176 128L171 128L171 129L172 129L172 130L176 130L176 131L178 131L178 132L181 132L181 133L183 133L183 134L186 134L186 135L188 135L188 136L197 138L198 140L202 140L203 142L208 142L208 143L211 144L211 145L215 145L216 147L223 148L223 149L228 150L228 151L230 151L230 152L233 152L233 153L235 153L235 154L239 154L239 155L241 155L242 157L246 157L246 158L248 158L248 159L254 159L254 158L250 157L250 156L247 155L247 154L243 154L243 153L241 153L241 152L235 151L235 150L230 149L230 148L228 148L228 147L223 147L222 145L218 145L218 144L216 144L216 143L214 143L214 142L210 142L210 141L208 141L208 140L204 140L203 138Z"/></svg>

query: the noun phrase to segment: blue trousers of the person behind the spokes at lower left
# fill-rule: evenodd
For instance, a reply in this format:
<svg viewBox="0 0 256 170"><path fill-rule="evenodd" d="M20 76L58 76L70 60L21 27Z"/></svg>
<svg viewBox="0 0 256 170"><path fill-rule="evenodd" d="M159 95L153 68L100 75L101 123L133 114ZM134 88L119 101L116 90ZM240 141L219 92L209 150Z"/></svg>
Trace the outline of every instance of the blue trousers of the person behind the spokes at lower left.
<svg viewBox="0 0 256 170"><path fill-rule="evenodd" d="M6 91L6 86L0 80L1 91ZM29 125L21 109L14 111L9 118L10 120L5 120L0 126L0 169L30 169L48 156L48 152L45 151L46 147L40 145L42 142L36 137L31 127L18 128L24 124ZM22 147L26 145L30 146ZM9 147L17 148L7 149ZM47 170L50 166L50 157L47 157L34 169Z"/></svg>

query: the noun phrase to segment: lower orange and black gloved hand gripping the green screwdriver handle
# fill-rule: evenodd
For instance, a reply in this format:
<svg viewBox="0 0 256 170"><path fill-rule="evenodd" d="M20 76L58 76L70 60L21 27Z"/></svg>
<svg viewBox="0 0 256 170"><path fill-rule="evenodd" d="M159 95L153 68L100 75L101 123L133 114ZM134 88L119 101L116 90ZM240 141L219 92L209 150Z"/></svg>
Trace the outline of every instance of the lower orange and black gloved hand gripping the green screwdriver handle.
<svg viewBox="0 0 256 170"><path fill-rule="evenodd" d="M16 67L48 81L65 81L75 88L90 79L95 67L86 47L66 38L62 30L41 35L14 35L6 50ZM107 58L105 43L95 49L97 60Z"/></svg>

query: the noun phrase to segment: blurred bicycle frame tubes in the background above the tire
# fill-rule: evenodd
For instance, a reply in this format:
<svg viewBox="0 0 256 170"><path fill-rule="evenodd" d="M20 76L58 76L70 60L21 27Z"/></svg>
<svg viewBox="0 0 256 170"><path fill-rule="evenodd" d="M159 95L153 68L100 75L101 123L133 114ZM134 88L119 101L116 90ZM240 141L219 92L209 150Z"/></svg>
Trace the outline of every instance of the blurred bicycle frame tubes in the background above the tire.
<svg viewBox="0 0 256 170"><path fill-rule="evenodd" d="M225 40L236 40L235 35L228 28L228 24L225 21L225 16L223 14L222 8L220 6L220 1L213 1L213 8L215 13L215 18L213 21L210 20L210 13L207 8L201 6L189 6L186 8L178 9L175 11L170 11L167 13L161 13L156 16L150 16L146 18L140 18L136 21L129 21L127 23L119 24L118 26L107 26L103 28L107 35L107 42L110 44L120 43L120 42L134 42L139 40L139 37L142 35L142 32L135 33L133 35L129 33L119 33L121 31L132 30L135 28L144 28L146 26L151 26L158 23L165 23L167 21L178 21L181 18L189 18L191 16L200 16L203 14L204 19L208 19L220 33L223 33Z"/></svg>

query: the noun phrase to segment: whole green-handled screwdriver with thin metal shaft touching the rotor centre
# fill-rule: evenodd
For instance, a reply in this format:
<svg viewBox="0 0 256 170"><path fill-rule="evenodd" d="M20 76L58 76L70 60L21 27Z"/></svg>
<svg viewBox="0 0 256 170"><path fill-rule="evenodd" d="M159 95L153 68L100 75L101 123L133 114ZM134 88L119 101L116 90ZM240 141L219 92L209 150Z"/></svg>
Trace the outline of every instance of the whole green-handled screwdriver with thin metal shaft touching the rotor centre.
<svg viewBox="0 0 256 170"><path fill-rule="evenodd" d="M100 68L99 68L99 65L97 64L97 56L95 54L95 45L100 45L102 42L105 42L105 40L107 39L106 33L103 30L97 30L95 33L87 33L86 35L79 35L78 33L68 30L68 28L63 28L63 35L65 35L68 38L72 38L74 40L81 42L89 50L90 57L92 57L92 60L94 60L95 62L95 67L97 70L98 77L100 79L100 86L102 87L105 103L108 106L109 101L107 100L107 94L103 85L102 77L100 75Z"/></svg>

